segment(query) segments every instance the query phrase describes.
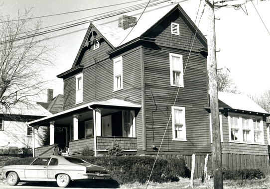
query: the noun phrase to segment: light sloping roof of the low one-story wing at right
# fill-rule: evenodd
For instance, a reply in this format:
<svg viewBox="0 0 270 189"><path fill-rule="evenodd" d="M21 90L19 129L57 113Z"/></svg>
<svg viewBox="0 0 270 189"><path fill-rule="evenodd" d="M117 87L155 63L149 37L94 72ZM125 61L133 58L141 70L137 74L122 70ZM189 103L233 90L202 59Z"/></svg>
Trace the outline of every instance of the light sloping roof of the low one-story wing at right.
<svg viewBox="0 0 270 189"><path fill-rule="evenodd" d="M218 98L220 100L219 105L224 108L269 114L247 95L219 92Z"/></svg>

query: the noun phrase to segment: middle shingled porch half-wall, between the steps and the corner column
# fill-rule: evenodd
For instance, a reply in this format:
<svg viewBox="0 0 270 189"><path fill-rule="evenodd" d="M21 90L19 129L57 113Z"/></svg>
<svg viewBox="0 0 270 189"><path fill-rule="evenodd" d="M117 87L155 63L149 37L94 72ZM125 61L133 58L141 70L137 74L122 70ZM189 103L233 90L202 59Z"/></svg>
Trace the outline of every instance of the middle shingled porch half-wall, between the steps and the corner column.
<svg viewBox="0 0 270 189"><path fill-rule="evenodd" d="M94 151L94 137L69 141L69 154L82 152L86 146Z"/></svg>

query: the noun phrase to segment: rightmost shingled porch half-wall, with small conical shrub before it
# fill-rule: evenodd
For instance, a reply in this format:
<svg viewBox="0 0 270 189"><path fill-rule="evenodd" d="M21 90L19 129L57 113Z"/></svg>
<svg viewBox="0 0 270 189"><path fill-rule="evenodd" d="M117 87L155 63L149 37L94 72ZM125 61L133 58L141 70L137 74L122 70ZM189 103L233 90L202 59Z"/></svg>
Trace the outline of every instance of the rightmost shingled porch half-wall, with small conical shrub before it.
<svg viewBox="0 0 270 189"><path fill-rule="evenodd" d="M118 144L123 150L136 150L137 149L137 139L129 137L105 137L98 136L97 150L108 150L112 147L113 141L117 140Z"/></svg>

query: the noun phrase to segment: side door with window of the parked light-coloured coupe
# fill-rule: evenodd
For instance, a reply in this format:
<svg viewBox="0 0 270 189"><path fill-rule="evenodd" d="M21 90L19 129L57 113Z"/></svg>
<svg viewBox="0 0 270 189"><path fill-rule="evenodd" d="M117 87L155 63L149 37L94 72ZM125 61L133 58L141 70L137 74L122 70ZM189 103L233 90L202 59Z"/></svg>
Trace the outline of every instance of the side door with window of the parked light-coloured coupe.
<svg viewBox="0 0 270 189"><path fill-rule="evenodd" d="M47 180L47 168L51 158L37 158L25 168L25 177L30 181Z"/></svg>

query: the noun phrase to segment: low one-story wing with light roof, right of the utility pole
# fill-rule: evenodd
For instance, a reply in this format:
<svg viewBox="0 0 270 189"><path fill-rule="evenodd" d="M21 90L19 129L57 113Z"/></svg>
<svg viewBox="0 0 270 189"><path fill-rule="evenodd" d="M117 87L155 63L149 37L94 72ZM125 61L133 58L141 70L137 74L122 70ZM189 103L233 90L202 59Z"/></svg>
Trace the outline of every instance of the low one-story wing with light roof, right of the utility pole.
<svg viewBox="0 0 270 189"><path fill-rule="evenodd" d="M270 114L247 95L218 95L223 167L259 168L269 173L266 117Z"/></svg>

